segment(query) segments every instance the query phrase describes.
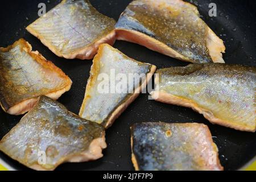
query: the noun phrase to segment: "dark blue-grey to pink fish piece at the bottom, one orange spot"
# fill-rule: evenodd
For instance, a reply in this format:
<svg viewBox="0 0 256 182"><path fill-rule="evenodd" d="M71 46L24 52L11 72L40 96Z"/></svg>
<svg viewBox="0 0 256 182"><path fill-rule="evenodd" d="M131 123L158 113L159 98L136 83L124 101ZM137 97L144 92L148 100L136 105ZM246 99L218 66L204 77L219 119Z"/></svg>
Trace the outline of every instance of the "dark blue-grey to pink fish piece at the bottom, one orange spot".
<svg viewBox="0 0 256 182"><path fill-rule="evenodd" d="M223 170L212 135L200 123L137 123L131 150L137 171Z"/></svg>

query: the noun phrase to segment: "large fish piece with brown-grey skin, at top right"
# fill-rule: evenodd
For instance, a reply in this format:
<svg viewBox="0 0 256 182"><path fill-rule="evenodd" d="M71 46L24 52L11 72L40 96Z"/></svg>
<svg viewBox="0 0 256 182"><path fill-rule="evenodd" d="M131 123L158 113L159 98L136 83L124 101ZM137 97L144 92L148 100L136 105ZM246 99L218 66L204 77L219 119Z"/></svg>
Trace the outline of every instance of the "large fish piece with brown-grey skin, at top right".
<svg viewBox="0 0 256 182"><path fill-rule="evenodd" d="M191 63L224 63L223 41L200 18L196 6L181 0L135 0L121 14L118 40Z"/></svg>

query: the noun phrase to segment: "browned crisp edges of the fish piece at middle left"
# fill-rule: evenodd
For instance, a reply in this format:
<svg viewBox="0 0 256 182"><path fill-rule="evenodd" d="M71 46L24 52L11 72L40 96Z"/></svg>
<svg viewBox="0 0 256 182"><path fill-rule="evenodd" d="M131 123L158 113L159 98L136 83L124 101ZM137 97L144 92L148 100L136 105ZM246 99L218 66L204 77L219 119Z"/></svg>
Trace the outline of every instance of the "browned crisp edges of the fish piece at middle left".
<svg viewBox="0 0 256 182"><path fill-rule="evenodd" d="M53 92L46 94L47 97L57 100L63 93L65 93L71 89L72 80L67 75L65 75L65 73L59 67L56 67L56 65L53 64L51 61L46 60L46 58L44 58L38 51L32 51L31 44L26 42L26 40L24 40L23 38L17 40L14 44L12 44L6 48L1 47L0 51L8 52L8 51L10 51L10 49L14 48L15 46L18 46L19 44L22 44L23 50L26 51L35 61L37 61L43 67L51 69L52 71L58 73L60 77L63 77L63 78L65 78L65 80L68 80L67 86L65 86L64 88L62 88L60 90L55 90ZM32 107L34 107L35 104L39 101L39 98L40 97L28 98L27 100L19 102L14 106L10 106L4 100L4 97L1 97L0 105L6 113L13 114L13 115L20 115L20 114L24 114L27 111L29 111L30 109L32 109ZM20 105L24 105L24 107L20 107ZM18 111L16 111L16 110L18 110Z"/></svg>

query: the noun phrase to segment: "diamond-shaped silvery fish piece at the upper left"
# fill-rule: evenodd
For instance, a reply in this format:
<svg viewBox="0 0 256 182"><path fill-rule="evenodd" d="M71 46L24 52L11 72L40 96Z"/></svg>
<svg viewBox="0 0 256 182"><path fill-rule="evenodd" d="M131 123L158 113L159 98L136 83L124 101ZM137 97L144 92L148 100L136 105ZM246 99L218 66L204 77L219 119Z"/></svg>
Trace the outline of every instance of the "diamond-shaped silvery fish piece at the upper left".
<svg viewBox="0 0 256 182"><path fill-rule="evenodd" d="M63 0L26 29L57 56L84 60L92 59L100 44L114 44L114 24L88 0Z"/></svg>

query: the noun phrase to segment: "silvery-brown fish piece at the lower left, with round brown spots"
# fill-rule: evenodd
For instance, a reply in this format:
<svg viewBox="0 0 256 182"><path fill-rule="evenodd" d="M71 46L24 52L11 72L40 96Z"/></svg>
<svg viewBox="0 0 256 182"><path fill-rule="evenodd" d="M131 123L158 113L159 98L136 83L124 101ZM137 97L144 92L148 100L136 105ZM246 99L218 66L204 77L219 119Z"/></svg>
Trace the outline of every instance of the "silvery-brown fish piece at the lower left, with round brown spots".
<svg viewBox="0 0 256 182"><path fill-rule="evenodd" d="M0 141L0 151L36 170L96 160L103 156L103 148L104 127L79 118L45 96Z"/></svg>

